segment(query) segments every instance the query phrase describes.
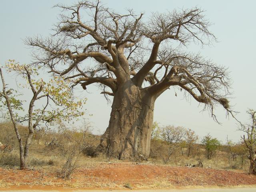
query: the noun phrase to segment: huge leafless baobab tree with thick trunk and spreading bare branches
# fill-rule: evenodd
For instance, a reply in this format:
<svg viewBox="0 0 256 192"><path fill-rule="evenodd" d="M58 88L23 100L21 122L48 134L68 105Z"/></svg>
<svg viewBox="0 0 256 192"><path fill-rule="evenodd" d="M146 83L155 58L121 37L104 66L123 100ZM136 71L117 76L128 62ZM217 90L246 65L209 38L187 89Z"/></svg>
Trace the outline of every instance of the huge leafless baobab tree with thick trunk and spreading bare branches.
<svg viewBox="0 0 256 192"><path fill-rule="evenodd" d="M35 64L84 90L98 84L102 94L114 97L100 146L111 148L118 158L149 155L154 103L171 86L203 103L216 121L216 105L232 113L227 68L182 52L190 43L203 46L216 40L203 10L156 12L144 20L144 14L120 14L99 1L55 7L62 12L53 36L25 42L34 50Z"/></svg>

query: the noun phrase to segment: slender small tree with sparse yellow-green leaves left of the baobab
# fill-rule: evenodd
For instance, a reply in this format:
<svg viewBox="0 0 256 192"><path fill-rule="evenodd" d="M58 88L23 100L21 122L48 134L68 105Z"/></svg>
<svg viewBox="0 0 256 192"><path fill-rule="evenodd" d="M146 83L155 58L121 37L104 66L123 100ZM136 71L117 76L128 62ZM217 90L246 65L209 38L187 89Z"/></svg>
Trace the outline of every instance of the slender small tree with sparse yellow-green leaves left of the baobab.
<svg viewBox="0 0 256 192"><path fill-rule="evenodd" d="M6 117L9 117L14 126L14 130L19 142L20 149L20 169L28 167L28 154L34 131L41 122L53 125L54 120L64 120L70 122L73 118L82 116L82 105L86 99L79 100L72 95L69 84L62 77L54 77L48 82L39 78L40 68L33 68L28 65L20 65L14 60L9 60L6 70L17 78L25 81L20 84L22 88L27 88L32 96L26 106L26 102L18 99L16 91L8 88L5 83L2 69L0 76L2 79L2 92L0 92L0 102L2 108L7 108ZM27 96L29 98L30 95ZM24 116L20 115L20 110L27 109ZM28 134L25 142L18 129L18 123L27 122Z"/></svg>

